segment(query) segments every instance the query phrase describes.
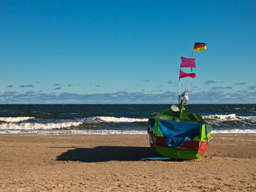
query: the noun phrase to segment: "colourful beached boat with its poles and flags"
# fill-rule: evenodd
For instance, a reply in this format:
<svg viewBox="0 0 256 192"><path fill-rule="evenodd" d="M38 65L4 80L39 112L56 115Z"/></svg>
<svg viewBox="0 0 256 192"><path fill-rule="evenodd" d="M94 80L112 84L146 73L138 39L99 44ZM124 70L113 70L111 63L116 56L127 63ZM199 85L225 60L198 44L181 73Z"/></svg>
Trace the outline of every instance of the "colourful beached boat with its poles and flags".
<svg viewBox="0 0 256 192"><path fill-rule="evenodd" d="M198 45L205 45L200 48ZM194 51L206 49L206 44L195 43ZM195 67L195 58L181 56L181 68ZM176 159L200 158L206 152L211 138L211 125L203 120L197 112L185 112L184 106L189 100L187 83L180 94L181 78L195 78L195 73L182 72L178 79L178 107L172 105L148 120L149 143L160 155ZM189 69L190 72L191 69Z"/></svg>

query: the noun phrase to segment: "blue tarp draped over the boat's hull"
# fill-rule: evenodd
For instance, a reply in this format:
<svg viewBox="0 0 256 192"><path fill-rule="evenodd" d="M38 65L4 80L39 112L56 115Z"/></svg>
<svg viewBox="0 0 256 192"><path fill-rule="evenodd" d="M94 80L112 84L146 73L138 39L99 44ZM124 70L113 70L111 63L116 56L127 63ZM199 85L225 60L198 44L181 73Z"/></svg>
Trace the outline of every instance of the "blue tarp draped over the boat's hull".
<svg viewBox="0 0 256 192"><path fill-rule="evenodd" d="M161 131L165 142L170 147L184 145L188 139L194 139L200 134L200 123L184 123L173 120L159 119L159 131Z"/></svg>

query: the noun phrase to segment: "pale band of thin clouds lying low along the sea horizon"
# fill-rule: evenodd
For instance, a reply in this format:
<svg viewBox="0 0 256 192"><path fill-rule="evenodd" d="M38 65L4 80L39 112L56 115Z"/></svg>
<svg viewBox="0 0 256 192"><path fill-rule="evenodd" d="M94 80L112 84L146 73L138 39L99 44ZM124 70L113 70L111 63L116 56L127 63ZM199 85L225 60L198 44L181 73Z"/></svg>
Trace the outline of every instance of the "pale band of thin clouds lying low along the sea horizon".
<svg viewBox="0 0 256 192"><path fill-rule="evenodd" d="M225 87L224 87L225 88ZM57 88L61 89L60 87ZM229 89L229 88L227 88ZM17 93L8 91L0 93L1 104L176 104L176 91L157 93L141 90L139 92L128 93L118 91L114 93L42 93L41 91L26 91ZM252 91L248 97L245 93L232 91L225 93L223 87L216 90L192 93L189 98L190 104L200 103L253 103L256 99L256 91Z"/></svg>

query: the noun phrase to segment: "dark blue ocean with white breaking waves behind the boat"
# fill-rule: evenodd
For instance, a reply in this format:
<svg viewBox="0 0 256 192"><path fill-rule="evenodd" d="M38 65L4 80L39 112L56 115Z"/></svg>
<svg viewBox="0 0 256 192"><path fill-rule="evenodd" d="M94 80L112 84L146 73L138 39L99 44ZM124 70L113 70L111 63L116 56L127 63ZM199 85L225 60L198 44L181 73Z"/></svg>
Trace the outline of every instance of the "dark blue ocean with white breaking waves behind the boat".
<svg viewBox="0 0 256 192"><path fill-rule="evenodd" d="M0 104L0 134L146 134L171 104ZM189 104L214 134L256 134L256 104Z"/></svg>

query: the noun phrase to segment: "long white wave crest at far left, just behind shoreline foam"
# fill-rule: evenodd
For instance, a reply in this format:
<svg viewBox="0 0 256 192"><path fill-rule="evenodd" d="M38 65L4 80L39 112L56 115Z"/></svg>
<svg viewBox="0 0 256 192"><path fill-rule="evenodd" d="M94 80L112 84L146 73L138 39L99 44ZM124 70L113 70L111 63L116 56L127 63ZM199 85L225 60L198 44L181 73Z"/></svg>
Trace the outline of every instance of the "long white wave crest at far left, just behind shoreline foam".
<svg viewBox="0 0 256 192"><path fill-rule="evenodd" d="M80 126L82 122L61 122L61 123L1 123L0 130L2 129L53 129L53 128L68 128L72 126Z"/></svg>

